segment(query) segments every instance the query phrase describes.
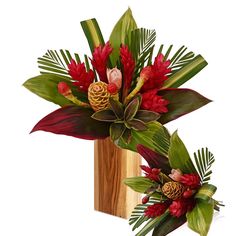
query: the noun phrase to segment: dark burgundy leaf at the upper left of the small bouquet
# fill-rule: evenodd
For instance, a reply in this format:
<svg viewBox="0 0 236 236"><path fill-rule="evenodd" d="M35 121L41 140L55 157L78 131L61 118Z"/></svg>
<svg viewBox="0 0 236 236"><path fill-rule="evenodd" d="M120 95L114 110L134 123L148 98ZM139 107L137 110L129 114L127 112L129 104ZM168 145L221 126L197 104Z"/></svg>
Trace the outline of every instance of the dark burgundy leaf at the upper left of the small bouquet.
<svg viewBox="0 0 236 236"><path fill-rule="evenodd" d="M168 158L160 155L157 152L154 152L142 144L137 145L137 151L147 161L151 168L161 169L161 171L166 175L170 174L171 167Z"/></svg>

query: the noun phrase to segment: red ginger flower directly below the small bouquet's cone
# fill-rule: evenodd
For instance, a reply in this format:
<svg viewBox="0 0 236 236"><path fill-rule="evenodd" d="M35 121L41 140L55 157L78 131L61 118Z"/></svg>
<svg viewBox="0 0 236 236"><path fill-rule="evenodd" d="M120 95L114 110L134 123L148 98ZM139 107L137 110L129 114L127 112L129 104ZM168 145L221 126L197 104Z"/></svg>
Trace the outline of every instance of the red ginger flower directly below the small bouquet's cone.
<svg viewBox="0 0 236 236"><path fill-rule="evenodd" d="M188 199L178 199L171 203L169 206L169 211L172 216L180 217L191 211L195 206L195 200L193 198Z"/></svg>

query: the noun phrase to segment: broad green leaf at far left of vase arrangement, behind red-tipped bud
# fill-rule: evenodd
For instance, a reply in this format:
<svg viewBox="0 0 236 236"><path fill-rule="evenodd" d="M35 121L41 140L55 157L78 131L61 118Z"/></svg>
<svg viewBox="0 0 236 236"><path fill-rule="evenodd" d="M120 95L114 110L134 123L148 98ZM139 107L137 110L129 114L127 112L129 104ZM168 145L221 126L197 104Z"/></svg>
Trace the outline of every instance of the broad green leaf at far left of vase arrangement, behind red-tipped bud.
<svg viewBox="0 0 236 236"><path fill-rule="evenodd" d="M77 88L72 85L71 81L65 77L44 74L27 80L23 86L29 89L32 93L35 93L39 97L53 102L60 106L72 105L73 103L66 99L64 96L58 93L57 85L59 82L66 82L72 89L73 94L81 101L86 101L86 95L79 93Z"/></svg>

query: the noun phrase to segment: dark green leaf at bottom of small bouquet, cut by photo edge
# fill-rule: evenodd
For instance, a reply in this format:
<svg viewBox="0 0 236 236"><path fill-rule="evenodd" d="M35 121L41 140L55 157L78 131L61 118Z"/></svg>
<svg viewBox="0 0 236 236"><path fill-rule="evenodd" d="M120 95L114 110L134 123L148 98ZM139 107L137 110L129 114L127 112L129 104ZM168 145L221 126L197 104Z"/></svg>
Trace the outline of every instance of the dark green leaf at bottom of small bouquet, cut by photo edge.
<svg viewBox="0 0 236 236"><path fill-rule="evenodd" d="M158 225L156 225L152 233L152 236L166 236L170 232L179 228L185 222L186 222L185 216L173 217L167 212L159 218L159 223Z"/></svg>

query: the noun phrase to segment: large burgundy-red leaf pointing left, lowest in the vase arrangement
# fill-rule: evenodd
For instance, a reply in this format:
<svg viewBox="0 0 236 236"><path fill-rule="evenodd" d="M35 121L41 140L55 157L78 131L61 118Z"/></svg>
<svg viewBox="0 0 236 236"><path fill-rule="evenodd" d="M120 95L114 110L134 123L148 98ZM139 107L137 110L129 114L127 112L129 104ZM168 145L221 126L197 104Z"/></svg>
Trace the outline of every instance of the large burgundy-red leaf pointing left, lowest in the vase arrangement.
<svg viewBox="0 0 236 236"><path fill-rule="evenodd" d="M93 110L78 106L60 108L40 120L32 132L42 130L81 139L103 139L109 136L109 123L92 119Z"/></svg>

